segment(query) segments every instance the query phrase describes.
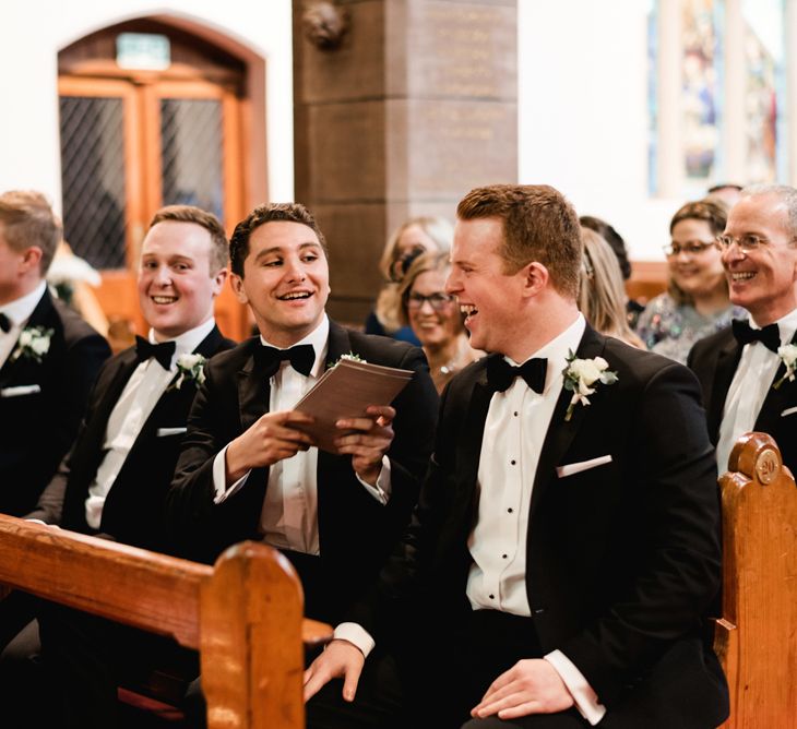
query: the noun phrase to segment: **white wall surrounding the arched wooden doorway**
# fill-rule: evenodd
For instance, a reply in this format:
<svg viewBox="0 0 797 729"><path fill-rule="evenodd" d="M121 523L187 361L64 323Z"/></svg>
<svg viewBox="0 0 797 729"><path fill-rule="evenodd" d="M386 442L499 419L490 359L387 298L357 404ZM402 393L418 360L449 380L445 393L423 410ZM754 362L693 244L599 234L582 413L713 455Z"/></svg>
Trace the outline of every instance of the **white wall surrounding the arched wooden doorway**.
<svg viewBox="0 0 797 729"><path fill-rule="evenodd" d="M2 11L0 190L35 188L60 207L58 51L123 20L171 15L215 28L265 59L269 192L273 200L293 198L290 0L4 0Z"/></svg>

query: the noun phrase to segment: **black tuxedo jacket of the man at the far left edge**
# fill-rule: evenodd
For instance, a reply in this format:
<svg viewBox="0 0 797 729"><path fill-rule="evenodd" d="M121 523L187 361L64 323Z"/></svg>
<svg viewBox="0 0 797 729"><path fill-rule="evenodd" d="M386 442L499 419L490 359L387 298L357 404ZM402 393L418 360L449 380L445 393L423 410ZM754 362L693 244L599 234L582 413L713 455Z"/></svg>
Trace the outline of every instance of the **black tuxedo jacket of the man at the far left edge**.
<svg viewBox="0 0 797 729"><path fill-rule="evenodd" d="M41 362L9 357L0 369L0 512L14 516L34 507L58 469L110 356L108 343L47 290L26 324L32 326L53 331Z"/></svg>

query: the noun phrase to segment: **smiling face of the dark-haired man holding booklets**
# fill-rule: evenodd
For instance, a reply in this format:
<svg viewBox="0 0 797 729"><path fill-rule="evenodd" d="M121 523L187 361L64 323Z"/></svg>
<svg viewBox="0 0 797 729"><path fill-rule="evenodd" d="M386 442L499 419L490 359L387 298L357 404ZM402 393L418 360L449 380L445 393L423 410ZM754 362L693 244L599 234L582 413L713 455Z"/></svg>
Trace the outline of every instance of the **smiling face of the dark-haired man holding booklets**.
<svg viewBox="0 0 797 729"><path fill-rule="evenodd" d="M329 265L318 236L301 223L271 220L252 230L243 276L231 280L260 333L276 346L296 344L324 316Z"/></svg>

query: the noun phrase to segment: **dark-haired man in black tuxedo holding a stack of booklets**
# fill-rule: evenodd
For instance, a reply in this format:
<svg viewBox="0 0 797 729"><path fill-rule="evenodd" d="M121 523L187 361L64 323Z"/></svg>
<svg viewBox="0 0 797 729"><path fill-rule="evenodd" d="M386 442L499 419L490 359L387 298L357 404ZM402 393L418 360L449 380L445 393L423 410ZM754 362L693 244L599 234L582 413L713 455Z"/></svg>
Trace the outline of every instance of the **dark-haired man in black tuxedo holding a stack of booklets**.
<svg viewBox="0 0 797 729"><path fill-rule="evenodd" d="M348 331L324 311L323 235L298 203L257 207L230 240L231 283L260 336L207 368L168 495L186 555L212 561L262 539L296 566L305 611L334 622L373 578L409 521L438 397L420 349ZM354 354L414 370L391 405L341 421L338 454L314 447L294 410L331 362Z"/></svg>

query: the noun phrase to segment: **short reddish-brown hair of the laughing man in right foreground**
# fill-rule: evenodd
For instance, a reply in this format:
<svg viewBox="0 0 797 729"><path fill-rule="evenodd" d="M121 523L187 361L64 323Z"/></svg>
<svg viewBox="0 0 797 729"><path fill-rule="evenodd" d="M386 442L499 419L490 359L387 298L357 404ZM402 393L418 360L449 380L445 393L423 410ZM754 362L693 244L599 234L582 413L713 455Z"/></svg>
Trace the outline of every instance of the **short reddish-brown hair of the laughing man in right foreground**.
<svg viewBox="0 0 797 729"><path fill-rule="evenodd" d="M573 206L547 184L492 184L468 192L456 206L462 220L500 218L504 271L520 271L532 261L550 274L554 288L576 299L581 268L581 226Z"/></svg>

